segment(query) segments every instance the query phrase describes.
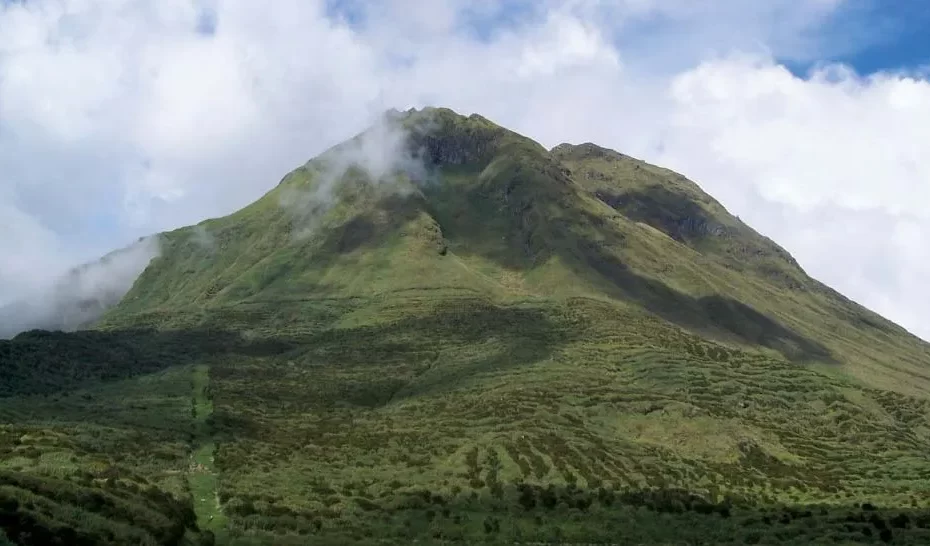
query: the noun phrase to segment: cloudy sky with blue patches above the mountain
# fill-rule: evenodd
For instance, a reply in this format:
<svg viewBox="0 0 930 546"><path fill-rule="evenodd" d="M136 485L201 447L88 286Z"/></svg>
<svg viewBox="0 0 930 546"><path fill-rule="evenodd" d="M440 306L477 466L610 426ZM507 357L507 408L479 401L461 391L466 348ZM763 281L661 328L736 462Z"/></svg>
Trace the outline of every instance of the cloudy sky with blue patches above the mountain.
<svg viewBox="0 0 930 546"><path fill-rule="evenodd" d="M388 108L672 168L930 339L920 0L0 0L0 304Z"/></svg>

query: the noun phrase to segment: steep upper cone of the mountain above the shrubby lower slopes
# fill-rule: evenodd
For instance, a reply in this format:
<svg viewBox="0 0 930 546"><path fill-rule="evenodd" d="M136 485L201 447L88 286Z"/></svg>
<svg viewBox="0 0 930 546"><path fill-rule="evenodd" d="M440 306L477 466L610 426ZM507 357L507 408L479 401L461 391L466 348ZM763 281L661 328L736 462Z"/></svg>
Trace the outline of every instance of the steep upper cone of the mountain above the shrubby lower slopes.
<svg viewBox="0 0 930 546"><path fill-rule="evenodd" d="M548 153L480 116L392 119L426 164L421 179L333 174L324 154L239 213L167 234L166 257L117 314L437 289L607 297L895 390L930 386L925 344L808 277L680 175L590 144ZM313 192L334 177L321 208Z"/></svg>

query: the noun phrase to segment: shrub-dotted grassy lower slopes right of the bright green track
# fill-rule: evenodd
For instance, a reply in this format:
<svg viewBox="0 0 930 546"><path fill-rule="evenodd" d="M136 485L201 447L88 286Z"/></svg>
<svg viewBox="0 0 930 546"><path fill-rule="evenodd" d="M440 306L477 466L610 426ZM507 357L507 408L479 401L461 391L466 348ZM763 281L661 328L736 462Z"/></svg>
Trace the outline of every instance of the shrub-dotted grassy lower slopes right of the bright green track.
<svg viewBox="0 0 930 546"><path fill-rule="evenodd" d="M930 538L922 400L601 302L427 301L214 366L232 543L880 541L863 504Z"/></svg>

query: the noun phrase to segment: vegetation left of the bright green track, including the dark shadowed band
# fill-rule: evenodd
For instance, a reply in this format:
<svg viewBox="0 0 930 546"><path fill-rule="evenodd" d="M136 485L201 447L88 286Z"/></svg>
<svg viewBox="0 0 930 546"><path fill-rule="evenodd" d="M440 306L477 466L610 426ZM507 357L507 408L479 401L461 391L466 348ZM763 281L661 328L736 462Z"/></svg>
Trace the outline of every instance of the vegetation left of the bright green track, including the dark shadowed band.
<svg viewBox="0 0 930 546"><path fill-rule="evenodd" d="M196 543L186 478L193 339L30 333L0 342L9 372L0 384L29 392L0 398L0 528L10 540ZM57 366L24 366L33 362Z"/></svg>

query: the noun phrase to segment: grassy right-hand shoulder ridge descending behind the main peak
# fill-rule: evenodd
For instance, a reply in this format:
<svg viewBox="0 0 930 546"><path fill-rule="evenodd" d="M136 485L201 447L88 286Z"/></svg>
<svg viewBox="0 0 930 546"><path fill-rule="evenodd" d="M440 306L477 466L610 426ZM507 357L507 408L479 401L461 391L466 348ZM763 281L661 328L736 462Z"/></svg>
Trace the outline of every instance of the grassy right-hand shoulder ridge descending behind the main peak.
<svg viewBox="0 0 930 546"><path fill-rule="evenodd" d="M917 396L930 392L930 351L924 342L808 277L787 252L731 216L694 183L592 144L561 145L553 153L591 195L703 255L692 259L686 280L669 271L675 265L667 258L659 265L644 265L651 274L678 277L692 293L731 294L822 343L833 360L844 364L844 373L866 384ZM708 230L718 233L708 235ZM669 238L665 242L662 255L668 257L676 245ZM642 255L637 250L627 257Z"/></svg>

